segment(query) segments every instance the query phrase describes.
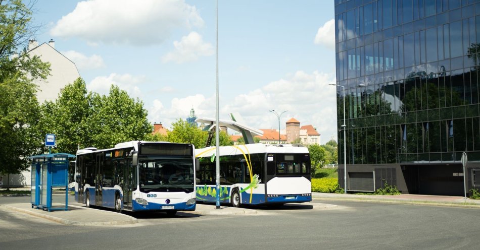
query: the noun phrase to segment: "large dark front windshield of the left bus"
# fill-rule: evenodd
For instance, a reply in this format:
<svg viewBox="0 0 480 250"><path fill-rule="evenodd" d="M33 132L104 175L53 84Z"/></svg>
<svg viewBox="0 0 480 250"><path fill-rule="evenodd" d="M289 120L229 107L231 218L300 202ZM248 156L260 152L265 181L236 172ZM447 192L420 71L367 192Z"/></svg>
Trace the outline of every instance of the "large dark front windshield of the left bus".
<svg viewBox="0 0 480 250"><path fill-rule="evenodd" d="M188 159L140 159L140 192L194 191L194 166Z"/></svg>

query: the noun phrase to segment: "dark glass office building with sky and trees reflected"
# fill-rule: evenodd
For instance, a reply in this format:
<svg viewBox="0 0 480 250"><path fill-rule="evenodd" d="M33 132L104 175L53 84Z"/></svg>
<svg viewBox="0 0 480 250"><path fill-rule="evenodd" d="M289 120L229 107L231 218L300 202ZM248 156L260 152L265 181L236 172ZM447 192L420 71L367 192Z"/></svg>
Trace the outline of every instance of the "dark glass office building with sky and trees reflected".
<svg viewBox="0 0 480 250"><path fill-rule="evenodd" d="M480 1L334 1L342 188L480 189Z"/></svg>

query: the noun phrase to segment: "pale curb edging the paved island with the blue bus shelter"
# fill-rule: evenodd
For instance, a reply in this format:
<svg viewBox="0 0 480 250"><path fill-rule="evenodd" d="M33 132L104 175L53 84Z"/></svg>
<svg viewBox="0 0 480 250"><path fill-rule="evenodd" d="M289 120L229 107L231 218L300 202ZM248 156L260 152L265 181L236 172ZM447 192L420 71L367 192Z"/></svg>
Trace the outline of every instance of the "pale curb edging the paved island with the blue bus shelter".
<svg viewBox="0 0 480 250"><path fill-rule="evenodd" d="M133 218L131 216L124 215L124 214L122 214L122 216L126 216L126 217L129 217L131 219L130 220L121 220L121 221L96 221L96 222L84 221L84 222L80 222L80 221L71 221L71 220L67 220L67 219L62 219L62 218L58 218L58 217L51 216L51 215L48 215L48 214L36 213L34 211L30 211L30 210L22 209L22 208L17 208L17 207L12 207L12 206L9 206L9 205L1 205L0 207L2 207L2 206L5 207L5 208L8 208L10 210L26 213L26 214L29 214L29 215L33 215L33 216L36 216L36 217L40 217L40 218L43 218L43 219L47 219L47 220L51 220L51 221L55 221L55 222L58 222L58 223L61 223L61 224L71 225L71 226L112 226L112 225L129 225L129 224L138 223L138 220L136 218ZM80 208L80 209L90 209L90 208L84 208L84 207L79 207L79 206L74 206L74 205L69 205L69 207ZM110 211L105 211L105 212L116 213L116 212L110 212Z"/></svg>

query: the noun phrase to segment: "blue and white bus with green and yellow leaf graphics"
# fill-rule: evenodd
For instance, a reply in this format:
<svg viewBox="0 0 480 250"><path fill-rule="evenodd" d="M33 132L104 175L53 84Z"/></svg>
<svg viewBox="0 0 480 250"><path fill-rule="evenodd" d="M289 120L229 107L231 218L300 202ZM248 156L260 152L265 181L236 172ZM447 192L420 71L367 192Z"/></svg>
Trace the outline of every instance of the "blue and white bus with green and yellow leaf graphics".
<svg viewBox="0 0 480 250"><path fill-rule="evenodd" d="M197 149L197 201L216 201L215 147ZM310 154L298 145L220 147L220 202L233 207L312 200Z"/></svg>

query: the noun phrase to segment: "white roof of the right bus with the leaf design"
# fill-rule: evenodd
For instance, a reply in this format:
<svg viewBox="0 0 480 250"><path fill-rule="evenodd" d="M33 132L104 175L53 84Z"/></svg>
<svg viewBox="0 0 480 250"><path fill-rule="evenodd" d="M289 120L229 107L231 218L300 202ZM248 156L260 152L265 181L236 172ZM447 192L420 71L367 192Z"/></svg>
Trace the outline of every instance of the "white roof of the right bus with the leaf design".
<svg viewBox="0 0 480 250"><path fill-rule="evenodd" d="M216 152L216 147L207 147L195 150L195 157L210 157ZM261 143L222 146L220 147L220 155L242 155L242 154L258 154L258 153L308 153L308 148L298 147L297 145L282 144L265 145Z"/></svg>

